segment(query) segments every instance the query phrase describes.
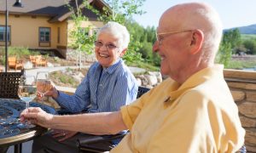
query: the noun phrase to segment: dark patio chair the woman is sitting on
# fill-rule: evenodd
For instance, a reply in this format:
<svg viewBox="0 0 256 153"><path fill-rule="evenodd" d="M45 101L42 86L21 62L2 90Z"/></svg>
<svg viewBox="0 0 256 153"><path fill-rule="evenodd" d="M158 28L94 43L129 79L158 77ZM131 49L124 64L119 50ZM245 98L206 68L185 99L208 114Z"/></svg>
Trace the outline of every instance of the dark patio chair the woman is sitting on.
<svg viewBox="0 0 256 153"><path fill-rule="evenodd" d="M143 94L147 93L149 88L139 87L137 91L137 99L140 98ZM114 135L86 135L84 137L79 137L77 145L80 152L104 152L111 150L116 144L111 146L104 146L102 142L112 142L113 140L120 140L125 137L129 131L122 131ZM101 144L101 145L99 145Z"/></svg>

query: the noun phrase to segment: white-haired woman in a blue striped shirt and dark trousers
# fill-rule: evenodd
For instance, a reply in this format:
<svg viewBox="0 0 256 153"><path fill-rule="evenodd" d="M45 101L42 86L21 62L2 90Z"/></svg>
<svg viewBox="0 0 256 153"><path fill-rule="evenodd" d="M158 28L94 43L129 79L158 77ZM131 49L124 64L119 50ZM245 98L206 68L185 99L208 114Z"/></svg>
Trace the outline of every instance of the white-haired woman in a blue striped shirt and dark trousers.
<svg viewBox="0 0 256 153"><path fill-rule="evenodd" d="M137 81L121 57L125 54L130 35L125 26L108 22L98 32L95 54L98 60L90 66L75 94L67 95L52 88L48 94L73 113L88 111L119 111L137 98ZM34 140L32 152L79 152L77 132L54 130Z"/></svg>

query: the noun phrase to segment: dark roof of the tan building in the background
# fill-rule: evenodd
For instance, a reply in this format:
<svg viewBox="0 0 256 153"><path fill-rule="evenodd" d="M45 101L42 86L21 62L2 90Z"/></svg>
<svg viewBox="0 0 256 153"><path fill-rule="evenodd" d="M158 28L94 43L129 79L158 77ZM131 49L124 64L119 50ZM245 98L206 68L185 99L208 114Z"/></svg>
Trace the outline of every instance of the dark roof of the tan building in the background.
<svg viewBox="0 0 256 153"><path fill-rule="evenodd" d="M102 8L108 7L107 3L103 0L88 0L95 8L102 10ZM75 0L21 0L23 7L14 7L13 4L16 0L7 0L9 14L29 14L49 16L49 22L58 22L66 20L73 11L67 7L67 3L70 6L76 8ZM82 0L78 0L79 8L83 8ZM0 0L0 14L5 14L6 10L5 0ZM92 13L88 9L83 11L85 15L90 19L96 19L96 14Z"/></svg>

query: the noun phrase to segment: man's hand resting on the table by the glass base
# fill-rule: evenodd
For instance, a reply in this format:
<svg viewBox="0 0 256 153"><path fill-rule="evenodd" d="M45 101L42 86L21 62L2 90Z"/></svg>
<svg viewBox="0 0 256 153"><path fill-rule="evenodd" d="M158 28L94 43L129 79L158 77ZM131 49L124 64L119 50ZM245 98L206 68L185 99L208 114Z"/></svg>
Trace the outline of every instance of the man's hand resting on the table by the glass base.
<svg viewBox="0 0 256 153"><path fill-rule="evenodd" d="M28 120L32 124L49 127L53 115L48 114L39 107L30 107L20 113L20 122Z"/></svg>

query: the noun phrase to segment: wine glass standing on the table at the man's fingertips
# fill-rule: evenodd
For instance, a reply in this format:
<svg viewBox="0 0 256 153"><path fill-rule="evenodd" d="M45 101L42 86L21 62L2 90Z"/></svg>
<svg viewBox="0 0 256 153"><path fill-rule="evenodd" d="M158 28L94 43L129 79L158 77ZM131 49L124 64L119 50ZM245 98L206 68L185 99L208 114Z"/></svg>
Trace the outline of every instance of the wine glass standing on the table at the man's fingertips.
<svg viewBox="0 0 256 153"><path fill-rule="evenodd" d="M33 76L22 75L20 77L18 95L20 99L26 103L26 109L29 107L29 102L37 96L37 86L35 81L35 77ZM23 124L21 123L20 127L30 128L34 126L26 121Z"/></svg>

